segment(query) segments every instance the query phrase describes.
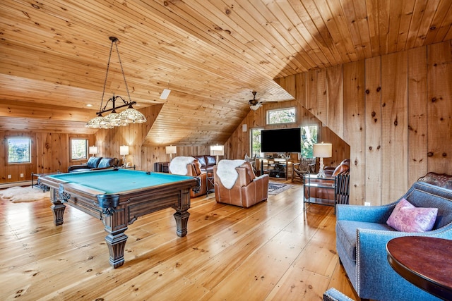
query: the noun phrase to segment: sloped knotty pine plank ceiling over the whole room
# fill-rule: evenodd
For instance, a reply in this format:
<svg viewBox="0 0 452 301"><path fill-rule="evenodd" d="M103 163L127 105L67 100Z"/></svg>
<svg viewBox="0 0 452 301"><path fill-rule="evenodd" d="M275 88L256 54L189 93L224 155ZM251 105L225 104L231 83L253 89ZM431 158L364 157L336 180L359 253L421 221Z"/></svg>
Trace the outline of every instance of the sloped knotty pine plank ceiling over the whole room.
<svg viewBox="0 0 452 301"><path fill-rule="evenodd" d="M450 0L3 0L0 130L95 133L110 36L136 109L163 104L145 144L206 145L253 90L292 99L275 78L446 41L451 23ZM105 99L124 86L113 51Z"/></svg>

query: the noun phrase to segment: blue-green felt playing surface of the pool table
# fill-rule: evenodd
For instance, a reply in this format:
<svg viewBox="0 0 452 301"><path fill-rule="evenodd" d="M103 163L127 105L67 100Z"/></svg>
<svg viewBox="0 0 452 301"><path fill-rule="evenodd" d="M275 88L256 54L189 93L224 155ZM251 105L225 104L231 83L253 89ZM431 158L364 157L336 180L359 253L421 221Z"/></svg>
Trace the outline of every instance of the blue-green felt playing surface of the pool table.
<svg viewBox="0 0 452 301"><path fill-rule="evenodd" d="M133 171L121 168L116 170L60 173L49 176L49 178L66 183L76 183L87 188L99 190L102 193L120 193L192 179L190 176L179 176L169 173L148 173L146 171Z"/></svg>

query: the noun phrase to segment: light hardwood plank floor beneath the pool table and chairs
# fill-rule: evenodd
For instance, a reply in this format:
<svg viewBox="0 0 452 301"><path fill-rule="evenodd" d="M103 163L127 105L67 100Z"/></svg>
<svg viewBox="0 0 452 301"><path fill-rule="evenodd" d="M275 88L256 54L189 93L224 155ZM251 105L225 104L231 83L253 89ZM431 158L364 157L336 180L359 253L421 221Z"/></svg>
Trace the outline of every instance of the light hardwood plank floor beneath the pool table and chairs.
<svg viewBox="0 0 452 301"><path fill-rule="evenodd" d="M49 202L0 199L0 300L321 300L335 287L356 299L335 252L332 207L302 206L302 185L249 209L192 199L189 233L173 209L129 225L125 264L108 262L101 221Z"/></svg>

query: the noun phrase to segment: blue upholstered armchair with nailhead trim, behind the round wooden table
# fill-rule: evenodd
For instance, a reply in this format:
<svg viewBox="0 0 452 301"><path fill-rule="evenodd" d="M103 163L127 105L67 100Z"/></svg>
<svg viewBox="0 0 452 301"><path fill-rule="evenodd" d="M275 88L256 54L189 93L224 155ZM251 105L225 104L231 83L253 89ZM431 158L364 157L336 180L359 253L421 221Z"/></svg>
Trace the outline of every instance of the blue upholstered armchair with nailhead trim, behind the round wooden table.
<svg viewBox="0 0 452 301"><path fill-rule="evenodd" d="M398 232L386 224L405 198L415 207L438 208L432 231ZM396 202L383 206L338 204L336 250L357 295L372 300L439 300L399 276L388 264L386 243L406 235L452 239L452 190L417 181Z"/></svg>

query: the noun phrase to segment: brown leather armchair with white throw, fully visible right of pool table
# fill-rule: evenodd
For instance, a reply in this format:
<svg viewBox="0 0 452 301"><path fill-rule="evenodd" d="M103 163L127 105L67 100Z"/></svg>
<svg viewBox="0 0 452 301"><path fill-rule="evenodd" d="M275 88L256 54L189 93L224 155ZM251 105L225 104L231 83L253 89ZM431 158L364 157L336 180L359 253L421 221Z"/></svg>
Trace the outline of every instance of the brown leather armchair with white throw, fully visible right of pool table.
<svg viewBox="0 0 452 301"><path fill-rule="evenodd" d="M213 167L213 177L218 203L248 208L268 197L268 175L256 177L244 160L221 160Z"/></svg>

